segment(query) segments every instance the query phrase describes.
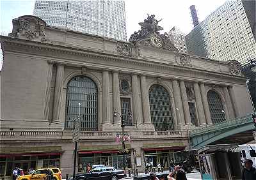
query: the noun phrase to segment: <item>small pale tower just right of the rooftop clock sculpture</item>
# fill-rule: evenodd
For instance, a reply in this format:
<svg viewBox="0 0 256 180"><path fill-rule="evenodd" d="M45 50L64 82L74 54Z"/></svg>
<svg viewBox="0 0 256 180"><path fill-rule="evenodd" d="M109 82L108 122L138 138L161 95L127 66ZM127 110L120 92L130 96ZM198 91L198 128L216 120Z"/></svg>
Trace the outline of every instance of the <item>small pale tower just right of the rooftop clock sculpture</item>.
<svg viewBox="0 0 256 180"><path fill-rule="evenodd" d="M187 52L185 36L178 27L173 26L168 33L169 39L172 41L174 46L179 50L179 52Z"/></svg>

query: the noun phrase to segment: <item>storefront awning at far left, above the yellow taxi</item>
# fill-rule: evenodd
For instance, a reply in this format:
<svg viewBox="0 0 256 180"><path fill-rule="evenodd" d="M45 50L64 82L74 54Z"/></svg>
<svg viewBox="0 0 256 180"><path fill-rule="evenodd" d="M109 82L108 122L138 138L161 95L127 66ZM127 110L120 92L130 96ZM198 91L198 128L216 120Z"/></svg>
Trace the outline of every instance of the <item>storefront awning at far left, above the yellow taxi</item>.
<svg viewBox="0 0 256 180"><path fill-rule="evenodd" d="M0 157L6 156L47 156L58 155L63 151L61 146L42 146L42 147L1 147Z"/></svg>

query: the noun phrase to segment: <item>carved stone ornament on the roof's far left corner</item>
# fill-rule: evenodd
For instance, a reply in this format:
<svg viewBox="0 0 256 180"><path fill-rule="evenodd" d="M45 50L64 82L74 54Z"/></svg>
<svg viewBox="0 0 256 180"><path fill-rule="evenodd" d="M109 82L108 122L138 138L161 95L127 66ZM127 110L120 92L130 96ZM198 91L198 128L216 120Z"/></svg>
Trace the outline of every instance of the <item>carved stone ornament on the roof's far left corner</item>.
<svg viewBox="0 0 256 180"><path fill-rule="evenodd" d="M9 36L25 40L45 42L45 26L44 20L32 16L24 15L19 19L12 20L13 29Z"/></svg>

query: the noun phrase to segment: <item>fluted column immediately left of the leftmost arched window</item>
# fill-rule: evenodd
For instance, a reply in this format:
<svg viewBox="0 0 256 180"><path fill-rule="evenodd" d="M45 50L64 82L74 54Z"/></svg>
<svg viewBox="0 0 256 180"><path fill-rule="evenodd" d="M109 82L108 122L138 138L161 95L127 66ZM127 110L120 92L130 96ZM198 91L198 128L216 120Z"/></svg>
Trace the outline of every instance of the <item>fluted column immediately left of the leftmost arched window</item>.
<svg viewBox="0 0 256 180"><path fill-rule="evenodd" d="M52 123L61 123L61 111L64 109L62 94L63 76L64 66L63 64L57 64Z"/></svg>

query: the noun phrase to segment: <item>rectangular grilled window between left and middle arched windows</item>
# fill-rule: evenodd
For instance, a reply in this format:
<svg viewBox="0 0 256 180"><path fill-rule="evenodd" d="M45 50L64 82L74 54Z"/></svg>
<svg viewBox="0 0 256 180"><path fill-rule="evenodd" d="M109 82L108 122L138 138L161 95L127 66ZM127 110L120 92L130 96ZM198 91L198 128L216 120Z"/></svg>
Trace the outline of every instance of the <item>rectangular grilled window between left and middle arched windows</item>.
<svg viewBox="0 0 256 180"><path fill-rule="evenodd" d="M130 98L121 98L121 110L122 110L122 119L126 126L132 126L132 119L129 117L131 113L131 99Z"/></svg>

